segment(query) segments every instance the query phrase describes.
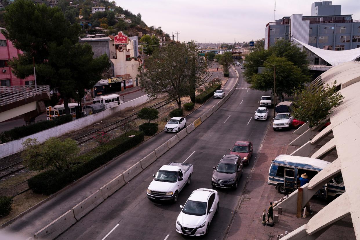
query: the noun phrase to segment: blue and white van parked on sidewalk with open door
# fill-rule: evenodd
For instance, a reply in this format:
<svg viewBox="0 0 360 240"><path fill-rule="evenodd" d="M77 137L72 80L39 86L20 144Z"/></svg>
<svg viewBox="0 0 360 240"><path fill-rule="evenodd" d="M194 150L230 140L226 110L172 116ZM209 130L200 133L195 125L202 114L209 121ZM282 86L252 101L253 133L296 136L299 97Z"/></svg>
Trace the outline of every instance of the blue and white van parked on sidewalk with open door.
<svg viewBox="0 0 360 240"><path fill-rule="evenodd" d="M267 184L275 186L279 193L287 194L298 188L298 178L303 174L313 178L330 163L316 158L279 155L270 165ZM300 186L300 185L299 185ZM345 192L341 173L325 184L315 195L321 198L337 197Z"/></svg>

